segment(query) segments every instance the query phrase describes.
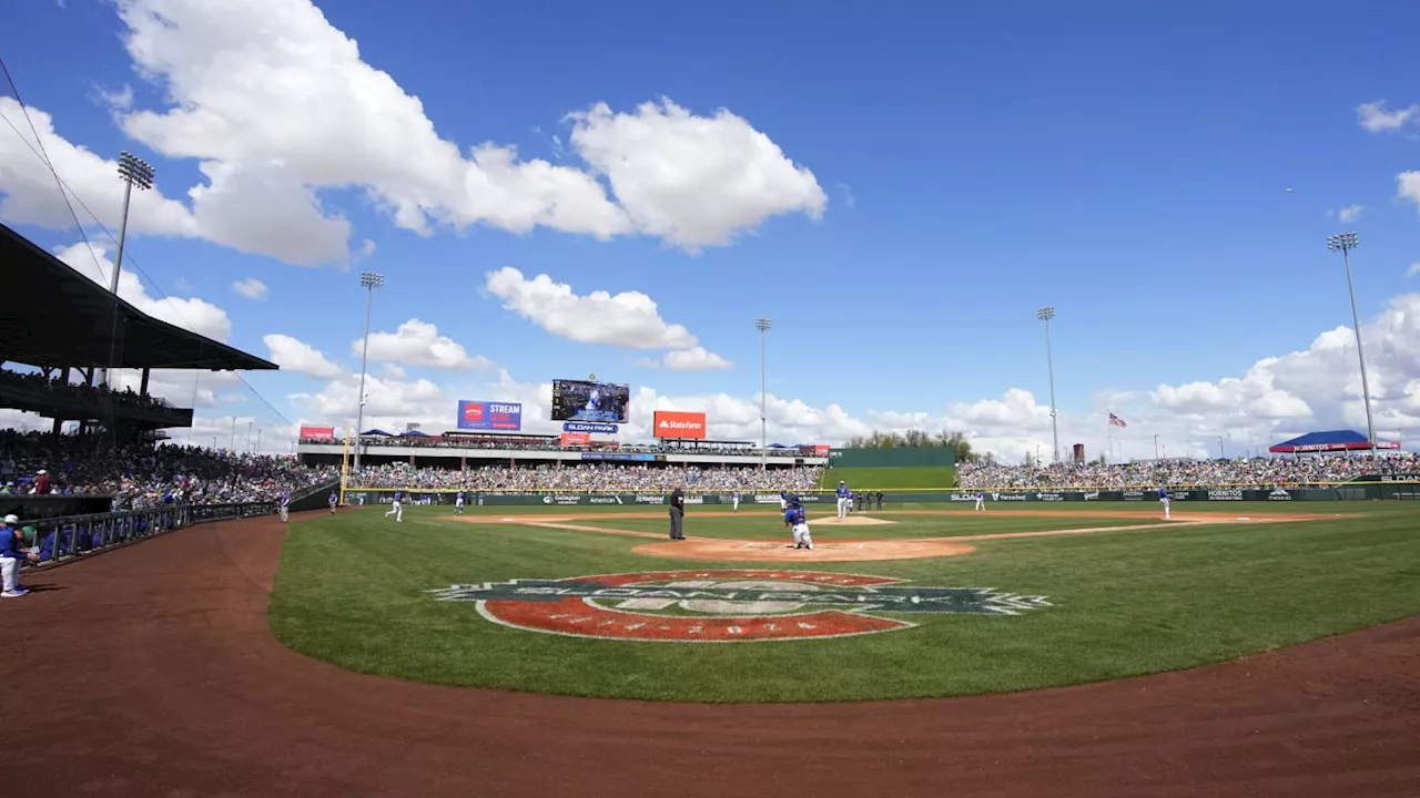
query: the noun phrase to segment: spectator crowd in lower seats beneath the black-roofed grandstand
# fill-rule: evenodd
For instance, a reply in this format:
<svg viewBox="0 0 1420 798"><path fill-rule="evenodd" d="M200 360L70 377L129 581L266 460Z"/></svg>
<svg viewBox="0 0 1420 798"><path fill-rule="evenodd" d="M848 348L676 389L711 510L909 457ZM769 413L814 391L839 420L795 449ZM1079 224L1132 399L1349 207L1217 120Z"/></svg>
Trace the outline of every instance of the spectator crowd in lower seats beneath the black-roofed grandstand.
<svg viewBox="0 0 1420 798"><path fill-rule="evenodd" d="M311 469L294 457L172 444L114 450L91 436L0 432L0 493L112 496L115 510L274 501L338 476L337 469Z"/></svg>

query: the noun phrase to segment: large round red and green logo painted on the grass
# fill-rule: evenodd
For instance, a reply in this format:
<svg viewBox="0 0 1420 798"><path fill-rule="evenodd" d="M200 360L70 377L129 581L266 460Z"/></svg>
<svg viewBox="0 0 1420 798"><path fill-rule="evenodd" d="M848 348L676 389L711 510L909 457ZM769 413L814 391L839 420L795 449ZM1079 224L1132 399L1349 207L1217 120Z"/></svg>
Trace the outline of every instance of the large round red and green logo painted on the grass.
<svg viewBox="0 0 1420 798"><path fill-rule="evenodd" d="M888 576L814 571L656 571L510 579L430 591L477 602L494 623L606 640L734 643L910 629L899 615L1020 615L1044 596L993 588L926 588Z"/></svg>

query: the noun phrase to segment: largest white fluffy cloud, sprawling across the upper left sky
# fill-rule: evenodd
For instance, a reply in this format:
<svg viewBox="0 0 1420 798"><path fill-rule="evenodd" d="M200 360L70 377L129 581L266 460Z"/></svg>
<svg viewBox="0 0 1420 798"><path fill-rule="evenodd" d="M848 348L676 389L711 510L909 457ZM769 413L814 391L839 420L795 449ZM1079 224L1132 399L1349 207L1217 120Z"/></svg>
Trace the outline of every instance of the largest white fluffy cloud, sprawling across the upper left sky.
<svg viewBox="0 0 1420 798"><path fill-rule="evenodd" d="M361 187L395 224L423 234L550 227L602 240L655 236L693 251L774 216L816 219L828 203L812 172L724 109L697 116L666 99L619 114L595 104L567 119L585 168L555 165L440 135L423 104L366 64L311 0L118 0L116 9L135 71L162 87L166 105L139 108L131 91L116 92L114 118L149 151L196 160L203 175L186 199L138 193L132 233L295 264L348 261L372 247L351 253L351 223L320 192ZM0 112L28 129L14 101L0 99ZM72 224L38 156L43 142L78 197L116 224L115 162L61 138L41 109L28 112L40 142L0 136L0 214Z"/></svg>

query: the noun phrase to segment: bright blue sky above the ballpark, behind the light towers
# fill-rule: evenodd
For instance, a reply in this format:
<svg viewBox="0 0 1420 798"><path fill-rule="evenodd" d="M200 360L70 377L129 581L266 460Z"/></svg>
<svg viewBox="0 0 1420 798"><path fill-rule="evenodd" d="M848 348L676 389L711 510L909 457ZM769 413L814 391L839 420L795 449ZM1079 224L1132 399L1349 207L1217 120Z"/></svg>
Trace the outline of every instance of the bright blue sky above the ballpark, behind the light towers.
<svg viewBox="0 0 1420 798"><path fill-rule="evenodd" d="M442 426L452 426L457 399L534 402L552 378L595 372L652 389L646 405L709 409L713 434L746 437L746 408L753 432L758 426L753 319L768 315L775 322L770 393L785 402L771 423L781 437L832 439L920 423L966 429L985 447L1014 454L1042 436L1049 444L1048 412L1044 426L1041 416L1048 405L1044 335L1034 311L1052 304L1056 399L1062 422L1074 425L1072 440L1088 439L1092 450L1106 446L1099 439L1109 406L1133 422L1140 440L1163 434L1179 452L1201 453L1220 432L1261 442L1316 426L1359 422L1363 429L1358 396L1345 395L1348 378L1316 368L1315 358L1291 376L1234 386L1233 395L1220 382L1242 379L1264 358L1308 354L1318 335L1349 328L1345 275L1339 257L1326 251L1328 234L1353 229L1362 236L1353 266L1363 321L1382 317L1420 280L1407 277L1420 261L1417 207L1397 185L1420 152L1413 135L1420 119L1404 115L1420 102L1420 87L1404 77L1420 9L1113 1L1068 9L897 4L885 11L842 3L804 14L790 4L750 3L699 11L653 3L542 3L532 10L420 1L392 14L383 3L349 1L321 4L334 28L321 31L308 26L308 6L261 0L236 24L185 0L26 3L0 31L0 55L24 104L53 118L55 136L106 159L121 149L139 153L156 166L162 193L178 203L192 206L187 190L209 180L202 160L241 168L275 162L271 169L300 172L305 185L314 185L312 173L334 175L317 196L327 217L349 223L346 257L284 263L291 258L283 253L300 247L263 240L260 219L240 231L187 236L155 223L153 234L129 240L125 271L136 264L153 298L200 298L220 308L237 346L268 356L264 337L280 334L344 372L359 366L351 352L362 332L358 271L382 271L388 284L375 297L372 329L393 331L417 318L470 358L494 364L423 368L427 358L395 358L405 382L429 379L439 395L392 389L389 412L378 413L389 423L408 417L439 426L443 413ZM165 31L143 21L149 14L176 24ZM287 24L285 14L301 23ZM349 165L338 162L342 148L358 160L366 152L361 146L378 146L351 145L381 135L375 116L408 116L408 108L369 106L368 125L342 126L328 146L300 135L320 126L298 116L320 114L328 97L321 81L358 72L329 65L339 51L329 43L339 34L358 43L356 64L386 72L403 94L417 97L437 136L456 142L464 158L484 142L511 145L524 162L592 173L611 200L622 200L619 189L633 189L630 177L616 185L615 176L589 169L572 146L575 124L567 115L598 102L632 115L640 104L669 98L706 126L687 133L682 146L657 151L659 160L642 163L649 172L638 175L665 177L713 160L696 148L719 146L710 128L723 108L811 173L822 212L802 196L765 200L760 204L778 210L731 214L753 223L734 227L728 244L699 253L646 233L599 240L545 226L456 230L430 222L427 236L402 229L388 196L375 199L379 192L368 185L345 182L341 169ZM62 48L53 45L55 38ZM251 41L301 57L273 70L260 70L260 58L226 58ZM204 70L224 70L227 78L248 72L223 81ZM115 108L112 97L125 87L131 99ZM251 97L234 101L227 97L233 91ZM270 125L233 115L283 108L273 92L287 99L310 94ZM216 108L223 124L193 129L212 122L199 119L176 132L170 124L125 128L122 118L142 111L162 116L175 99ZM1379 111L1397 114L1393 129L1362 125L1358 108L1379 101L1386 101ZM7 119L26 131L23 115L7 108ZM271 129L257 136L248 125ZM248 142L254 138L260 146ZM4 139L0 153L20 152L18 136L0 126ZM628 148L618 153L652 149L625 136L615 146ZM301 163L307 166L295 168ZM4 175L6 223L51 248L78 241L72 222L24 212L24 203L41 203L26 196L38 186L26 189L14 173ZM746 169L724 176L720 193L689 196L754 206L757 192L807 190L788 185L791 176L781 170L785 185L760 186L761 175ZM61 177L94 204L82 176ZM116 192L116 180L92 186ZM53 204L53 182L50 189ZM427 190L427 183L417 189ZM260 186L243 185L231 196L233 203L281 204L264 200ZM652 216L699 219L719 210L696 207L696 200L665 210L655 199L640 203ZM1362 207L1359 216L1340 222L1338 212L1350 206ZM222 207L233 214L239 206ZM373 244L371 254L364 254L365 241ZM665 352L550 331L547 319L540 325L511 312L488 291L487 273L503 267L527 278L547 274L577 295L643 293L662 319L684 325L696 345L733 368L648 368L640 361ZM261 281L267 295L254 301L231 290L247 278ZM1377 433L1396 437L1420 420L1420 388L1407 389L1420 369L1409 371L1416 364L1403 355L1420 339L1404 338L1414 334L1413 317L1387 318L1367 356L1377 361L1373 382L1384 383L1384 422L1396 430ZM1384 338L1396 329L1400 338ZM1306 375L1318 376L1316 385ZM1328 375L1331 385L1323 385ZM335 399L311 399L322 390L339 395L331 379L295 371L247 379L290 422L344 420ZM348 373L334 382L342 381ZM1150 396L1160 385L1190 383L1207 383L1214 393ZM1031 392L1032 403L1012 403L1011 389ZM250 415L258 405L250 396L246 403L220 400L244 390L219 388L217 406L200 413ZM346 393L354 400L355 389ZM720 393L726 396L709 399ZM1288 410L1291 399L1308 412ZM832 405L843 417L819 412Z"/></svg>

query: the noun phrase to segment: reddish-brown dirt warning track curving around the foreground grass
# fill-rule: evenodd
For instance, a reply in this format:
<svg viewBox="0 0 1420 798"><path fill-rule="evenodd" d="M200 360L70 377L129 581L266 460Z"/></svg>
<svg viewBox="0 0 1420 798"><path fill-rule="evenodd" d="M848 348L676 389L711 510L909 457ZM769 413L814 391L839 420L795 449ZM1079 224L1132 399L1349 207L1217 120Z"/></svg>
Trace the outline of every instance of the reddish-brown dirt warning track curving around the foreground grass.
<svg viewBox="0 0 1420 798"><path fill-rule="evenodd" d="M1416 795L1420 618L976 699L700 706L342 672L266 628L283 528L203 525L0 605L16 797ZM713 673L706 673L713 679Z"/></svg>

